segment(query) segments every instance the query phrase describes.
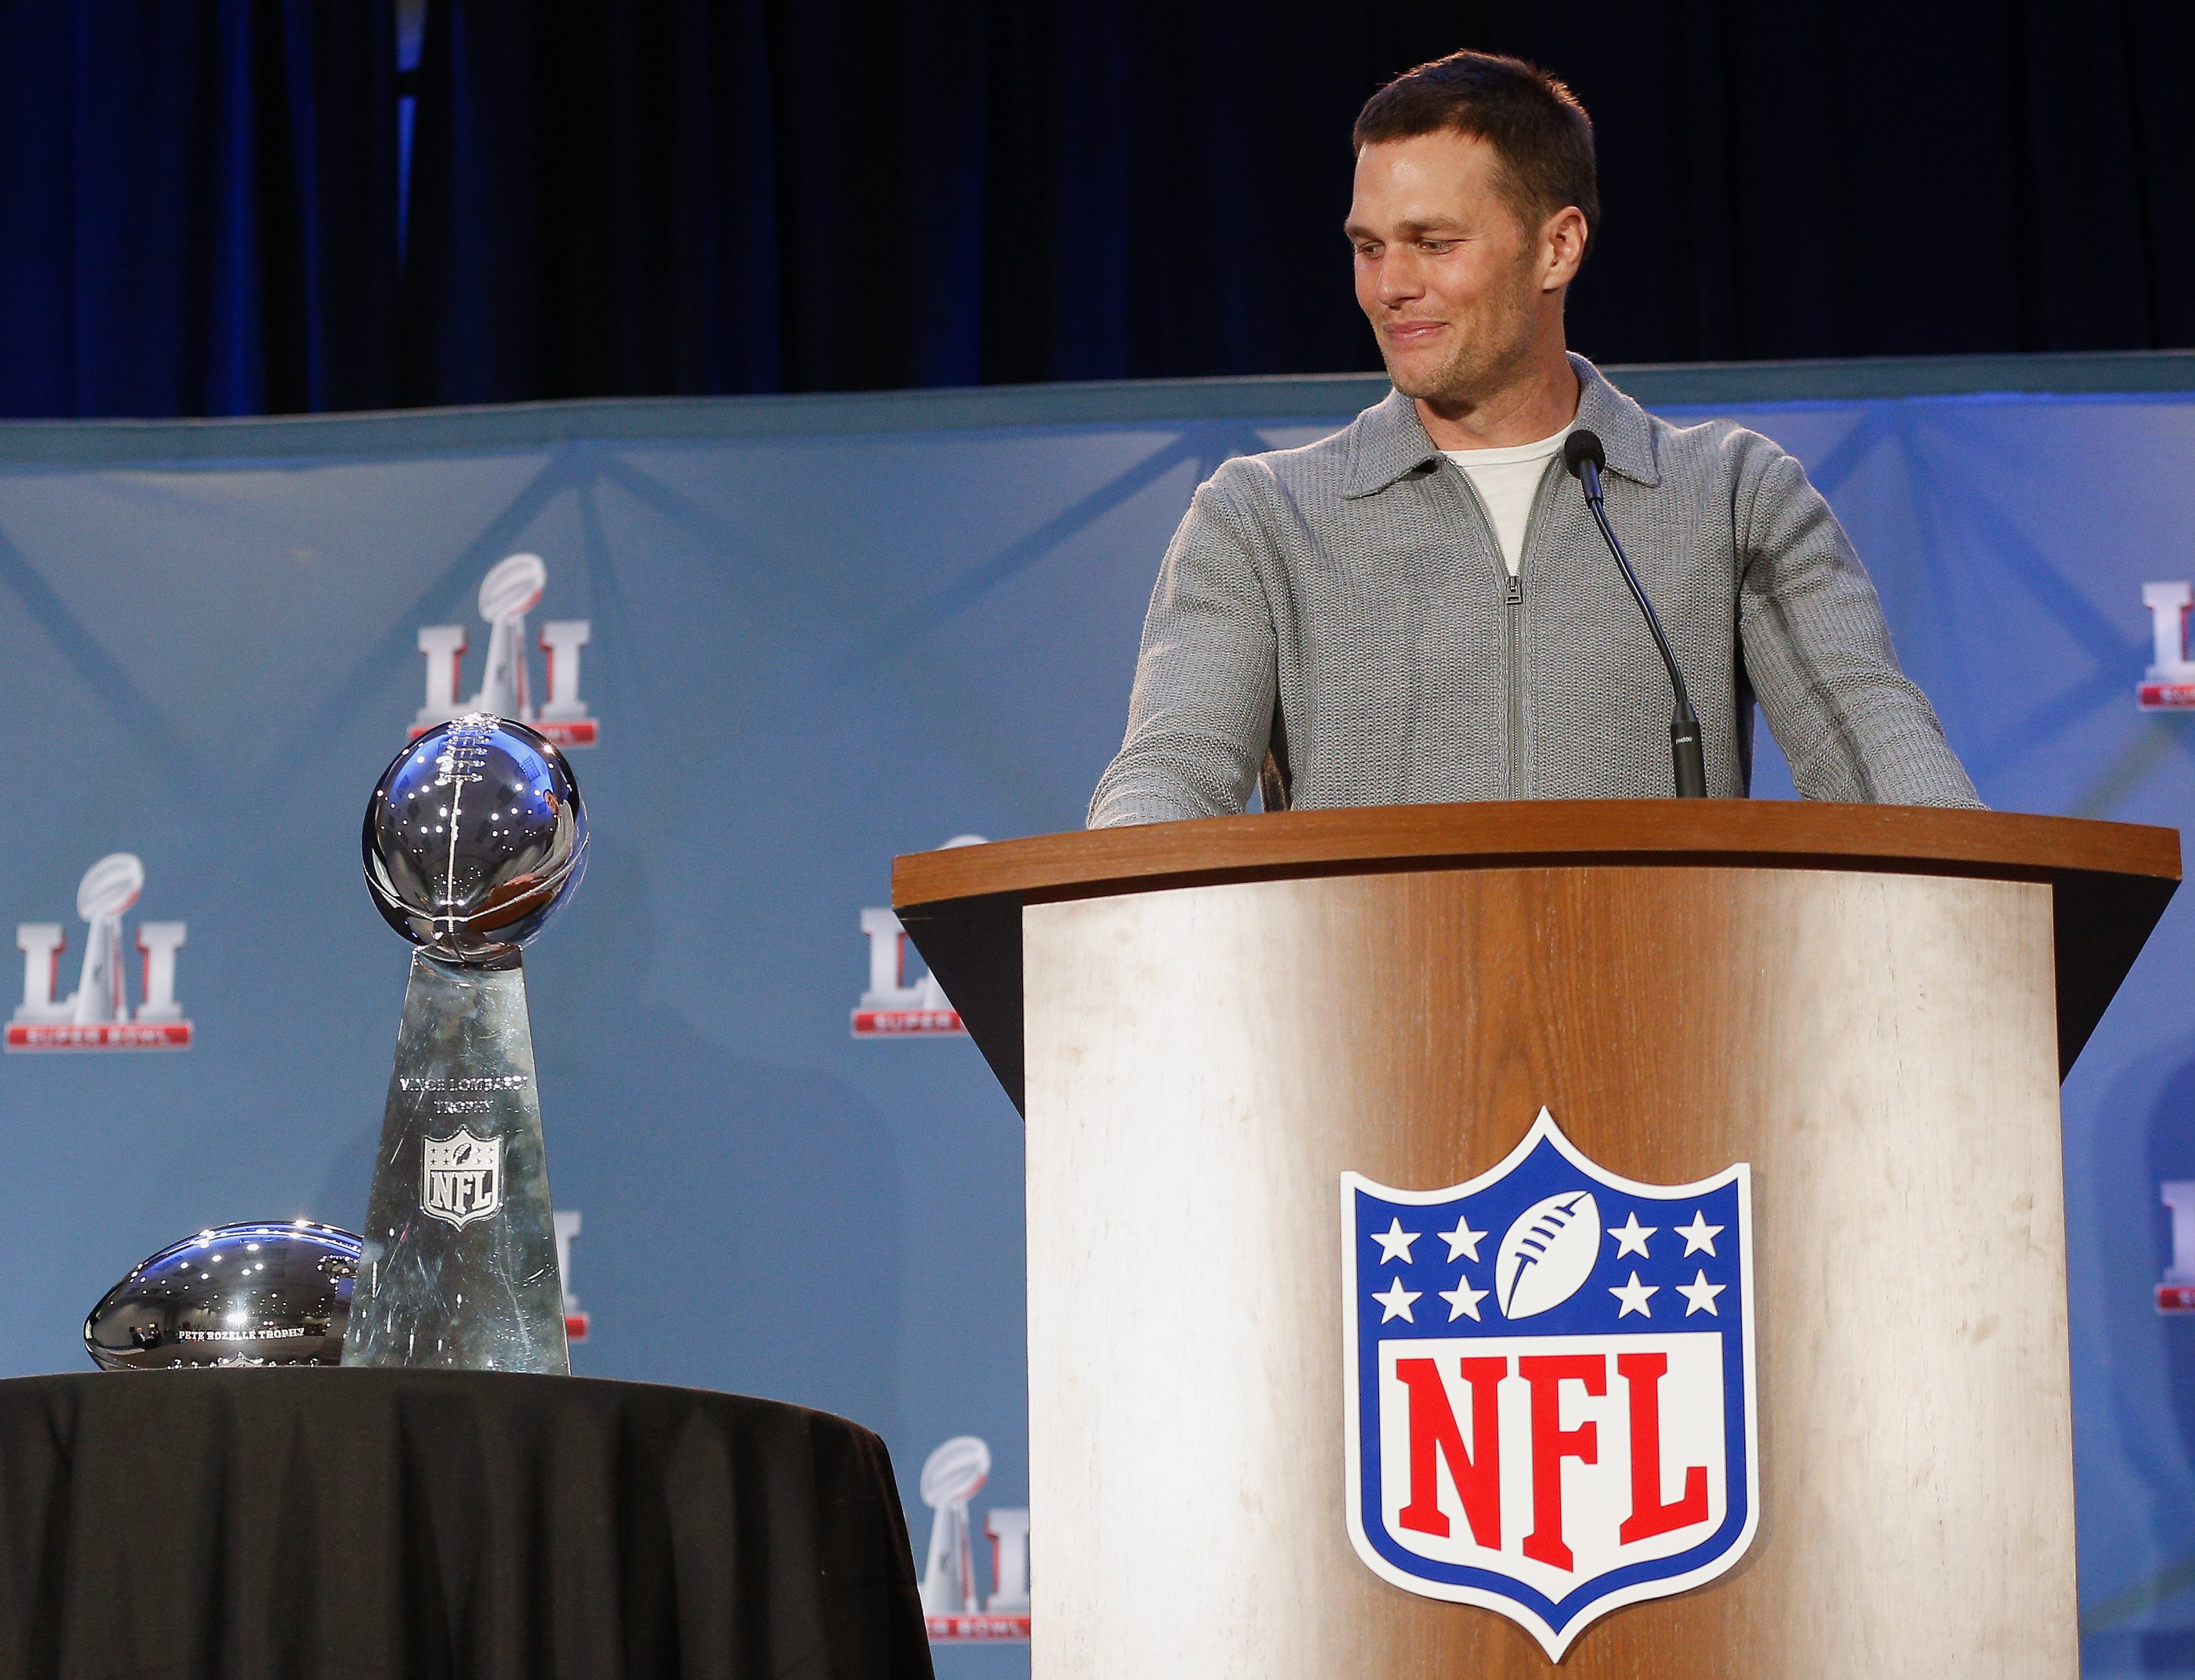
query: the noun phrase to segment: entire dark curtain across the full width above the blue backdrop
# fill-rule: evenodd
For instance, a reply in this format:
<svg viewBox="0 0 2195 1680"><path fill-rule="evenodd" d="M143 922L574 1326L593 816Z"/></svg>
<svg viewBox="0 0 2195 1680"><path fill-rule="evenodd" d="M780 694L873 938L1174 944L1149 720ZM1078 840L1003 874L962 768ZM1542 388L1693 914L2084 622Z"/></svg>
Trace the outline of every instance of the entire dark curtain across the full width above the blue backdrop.
<svg viewBox="0 0 2195 1680"><path fill-rule="evenodd" d="M1567 77L1607 362L2195 345L2184 0L0 0L0 413L1374 362L1365 94Z"/></svg>

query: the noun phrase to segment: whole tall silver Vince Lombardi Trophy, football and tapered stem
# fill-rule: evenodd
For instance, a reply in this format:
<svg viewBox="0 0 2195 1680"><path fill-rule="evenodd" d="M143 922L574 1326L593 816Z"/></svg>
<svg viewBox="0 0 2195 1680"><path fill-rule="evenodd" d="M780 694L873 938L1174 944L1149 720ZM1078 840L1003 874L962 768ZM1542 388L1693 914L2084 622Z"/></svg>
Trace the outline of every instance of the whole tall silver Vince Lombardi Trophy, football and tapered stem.
<svg viewBox="0 0 2195 1680"><path fill-rule="evenodd" d="M571 1370L518 947L571 896L586 810L509 718L428 729L373 788L367 885L410 940L347 1366Z"/></svg>

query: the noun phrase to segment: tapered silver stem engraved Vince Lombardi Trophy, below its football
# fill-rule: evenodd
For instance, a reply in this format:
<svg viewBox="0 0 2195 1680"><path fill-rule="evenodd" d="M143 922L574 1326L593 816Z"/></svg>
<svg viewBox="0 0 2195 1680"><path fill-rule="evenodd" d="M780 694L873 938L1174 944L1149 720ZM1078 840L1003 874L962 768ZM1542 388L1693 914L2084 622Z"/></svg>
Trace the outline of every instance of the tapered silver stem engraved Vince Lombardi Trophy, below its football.
<svg viewBox="0 0 2195 1680"><path fill-rule="evenodd" d="M413 953L342 1364L571 1373L516 955Z"/></svg>

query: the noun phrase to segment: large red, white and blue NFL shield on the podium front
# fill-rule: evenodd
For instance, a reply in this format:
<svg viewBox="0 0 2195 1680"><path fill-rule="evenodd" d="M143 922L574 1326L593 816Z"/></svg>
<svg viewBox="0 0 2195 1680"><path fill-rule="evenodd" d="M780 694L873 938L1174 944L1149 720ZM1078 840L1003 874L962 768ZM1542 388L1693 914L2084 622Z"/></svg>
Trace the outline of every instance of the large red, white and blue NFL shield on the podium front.
<svg viewBox="0 0 2195 1680"><path fill-rule="evenodd" d="M1374 1575L1561 1662L1758 1522L1749 1168L1633 1184L1541 1109L1451 1190L1341 1175L1348 1520Z"/></svg>

